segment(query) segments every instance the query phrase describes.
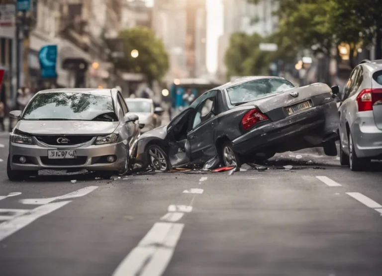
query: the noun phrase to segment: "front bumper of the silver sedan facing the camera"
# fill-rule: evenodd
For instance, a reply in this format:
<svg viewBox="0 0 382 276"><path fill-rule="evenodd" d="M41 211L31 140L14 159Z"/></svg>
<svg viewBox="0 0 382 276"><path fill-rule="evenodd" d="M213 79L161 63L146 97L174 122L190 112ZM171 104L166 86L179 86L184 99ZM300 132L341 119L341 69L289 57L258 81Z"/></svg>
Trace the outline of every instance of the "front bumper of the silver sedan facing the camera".
<svg viewBox="0 0 382 276"><path fill-rule="evenodd" d="M95 137L81 146L55 147L40 143L33 138L35 145L9 142L9 160L12 170L68 170L86 169L89 171L119 171L125 167L128 158L124 142L116 144L93 145ZM76 159L49 159L48 150L75 150ZM19 161L26 158L25 163ZM115 161L107 162L107 156L114 156Z"/></svg>

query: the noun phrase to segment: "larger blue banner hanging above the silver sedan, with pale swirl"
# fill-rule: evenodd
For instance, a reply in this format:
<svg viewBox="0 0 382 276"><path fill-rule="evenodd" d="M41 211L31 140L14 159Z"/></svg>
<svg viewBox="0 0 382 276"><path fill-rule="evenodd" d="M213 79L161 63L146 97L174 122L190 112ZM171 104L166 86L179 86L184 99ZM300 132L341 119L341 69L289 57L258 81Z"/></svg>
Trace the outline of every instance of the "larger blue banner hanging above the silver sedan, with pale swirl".
<svg viewBox="0 0 382 276"><path fill-rule="evenodd" d="M46 45L38 53L40 61L41 78L57 78L57 45Z"/></svg>

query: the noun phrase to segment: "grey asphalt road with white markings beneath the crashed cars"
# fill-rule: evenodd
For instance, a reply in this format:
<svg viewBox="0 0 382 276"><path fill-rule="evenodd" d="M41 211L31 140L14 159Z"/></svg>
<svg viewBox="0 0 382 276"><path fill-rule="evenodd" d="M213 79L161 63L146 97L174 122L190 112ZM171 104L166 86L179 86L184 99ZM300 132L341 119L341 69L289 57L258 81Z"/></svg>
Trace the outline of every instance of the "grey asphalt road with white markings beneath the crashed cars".
<svg viewBox="0 0 382 276"><path fill-rule="evenodd" d="M379 164L10 183L0 144L1 276L381 276Z"/></svg>

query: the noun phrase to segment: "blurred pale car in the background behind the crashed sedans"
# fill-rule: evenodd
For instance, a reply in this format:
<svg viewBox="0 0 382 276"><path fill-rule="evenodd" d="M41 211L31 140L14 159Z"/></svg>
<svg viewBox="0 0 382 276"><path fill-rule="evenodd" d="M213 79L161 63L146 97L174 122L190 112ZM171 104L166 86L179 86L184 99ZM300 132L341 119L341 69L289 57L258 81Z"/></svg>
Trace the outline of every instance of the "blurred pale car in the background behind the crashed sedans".
<svg viewBox="0 0 382 276"><path fill-rule="evenodd" d="M154 101L148 98L125 98L130 112L137 114L141 133L152 130L162 124L161 115L164 112L160 106L155 107Z"/></svg>

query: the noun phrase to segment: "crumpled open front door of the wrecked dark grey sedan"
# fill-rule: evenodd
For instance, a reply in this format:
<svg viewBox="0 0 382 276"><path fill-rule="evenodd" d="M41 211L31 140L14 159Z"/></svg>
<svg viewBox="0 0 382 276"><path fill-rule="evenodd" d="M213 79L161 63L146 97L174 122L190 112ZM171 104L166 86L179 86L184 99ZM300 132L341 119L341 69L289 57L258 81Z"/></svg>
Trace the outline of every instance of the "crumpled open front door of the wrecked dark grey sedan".
<svg viewBox="0 0 382 276"><path fill-rule="evenodd" d="M194 112L193 108L182 111L167 126L168 156L172 167L186 166L191 162L191 145L187 132Z"/></svg>

